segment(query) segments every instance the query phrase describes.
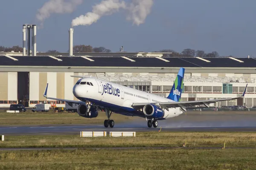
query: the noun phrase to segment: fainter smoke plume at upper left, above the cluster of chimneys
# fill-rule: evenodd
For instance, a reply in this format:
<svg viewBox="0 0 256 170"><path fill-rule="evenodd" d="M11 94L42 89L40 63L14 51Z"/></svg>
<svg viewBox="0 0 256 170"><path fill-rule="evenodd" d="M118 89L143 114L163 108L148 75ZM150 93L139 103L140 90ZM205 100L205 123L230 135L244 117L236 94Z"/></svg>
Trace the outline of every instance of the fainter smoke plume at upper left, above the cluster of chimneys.
<svg viewBox="0 0 256 170"><path fill-rule="evenodd" d="M38 9L36 19L43 23L51 14L72 13L81 3L83 3L83 0L49 0Z"/></svg>

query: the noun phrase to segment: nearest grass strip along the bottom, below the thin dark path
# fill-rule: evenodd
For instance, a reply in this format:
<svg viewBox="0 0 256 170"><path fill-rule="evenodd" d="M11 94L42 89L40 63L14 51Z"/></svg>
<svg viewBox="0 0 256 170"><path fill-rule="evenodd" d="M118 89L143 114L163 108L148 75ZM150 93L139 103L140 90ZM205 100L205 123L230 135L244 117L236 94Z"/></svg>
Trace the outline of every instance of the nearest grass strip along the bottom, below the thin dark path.
<svg viewBox="0 0 256 170"><path fill-rule="evenodd" d="M255 150L134 149L1 151L3 170L249 170Z"/></svg>

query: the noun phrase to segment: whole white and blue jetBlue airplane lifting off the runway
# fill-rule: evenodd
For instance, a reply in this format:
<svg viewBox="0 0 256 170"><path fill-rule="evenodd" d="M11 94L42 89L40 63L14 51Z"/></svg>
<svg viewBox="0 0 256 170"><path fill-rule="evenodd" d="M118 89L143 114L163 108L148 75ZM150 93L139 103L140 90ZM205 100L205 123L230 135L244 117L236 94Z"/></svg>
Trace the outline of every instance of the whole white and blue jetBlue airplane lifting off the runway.
<svg viewBox="0 0 256 170"><path fill-rule="evenodd" d="M187 109L209 108L211 103L244 97L247 85L242 96L237 98L180 102L184 72L185 68L180 68L167 98L123 85L117 85L113 82L83 76L71 76L81 78L73 87L73 94L80 101L47 97L48 83L45 88L44 97L67 102L71 107L73 103L79 104L77 112L85 118L95 118L98 116L98 110L103 110L108 117L104 121L105 127L114 127L114 121L111 120L112 112L126 116L143 117L146 120L148 119L148 127L152 127L152 125L157 127L157 120L178 116L186 112Z"/></svg>

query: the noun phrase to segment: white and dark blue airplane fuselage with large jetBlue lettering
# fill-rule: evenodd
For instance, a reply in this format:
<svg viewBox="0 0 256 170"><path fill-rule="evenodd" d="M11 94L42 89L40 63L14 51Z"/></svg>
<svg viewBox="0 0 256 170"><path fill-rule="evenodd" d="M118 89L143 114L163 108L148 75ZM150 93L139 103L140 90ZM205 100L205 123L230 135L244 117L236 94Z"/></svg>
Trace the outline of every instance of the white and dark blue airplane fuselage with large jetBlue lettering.
<svg viewBox="0 0 256 170"><path fill-rule="evenodd" d="M110 108L115 113L144 118L143 111L134 109L133 103L173 102L171 99L96 78L80 79L73 87L73 94L83 102L90 101L104 108ZM164 110L164 116L161 119L168 119L182 113L180 108L169 108L169 111Z"/></svg>

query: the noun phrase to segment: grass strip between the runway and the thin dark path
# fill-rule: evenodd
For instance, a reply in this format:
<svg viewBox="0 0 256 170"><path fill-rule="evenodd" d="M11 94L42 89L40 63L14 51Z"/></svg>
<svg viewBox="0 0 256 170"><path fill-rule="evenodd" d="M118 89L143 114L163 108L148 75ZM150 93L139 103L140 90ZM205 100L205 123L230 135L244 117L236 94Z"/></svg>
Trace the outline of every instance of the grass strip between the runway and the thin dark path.
<svg viewBox="0 0 256 170"><path fill-rule="evenodd" d="M163 129L164 130L164 129ZM256 147L253 132L137 132L136 137L5 136L0 147Z"/></svg>

